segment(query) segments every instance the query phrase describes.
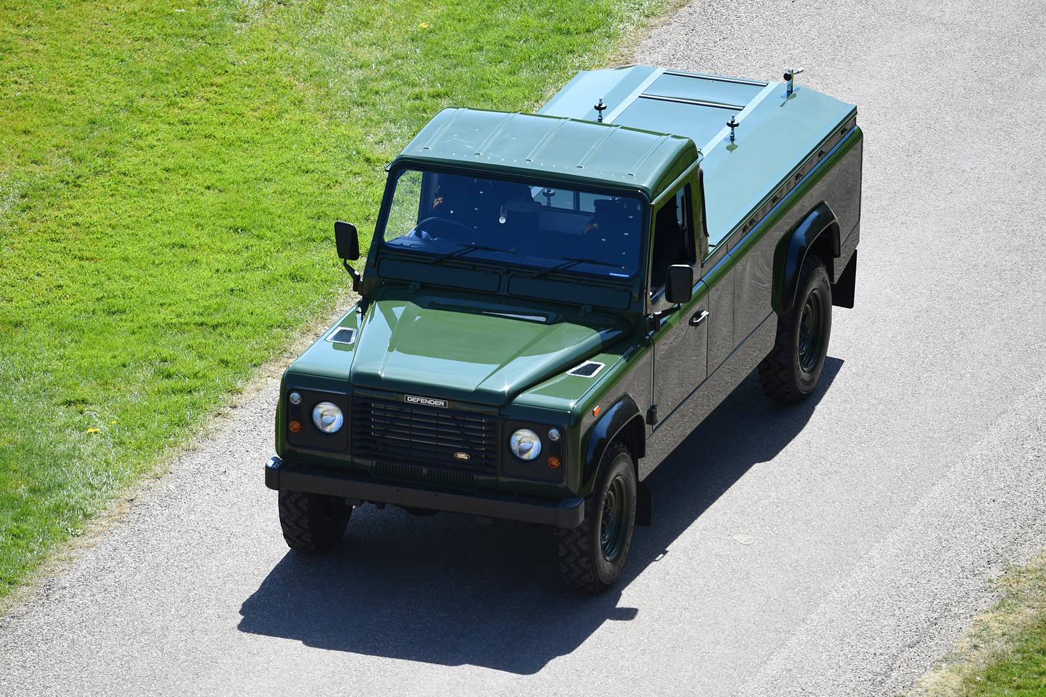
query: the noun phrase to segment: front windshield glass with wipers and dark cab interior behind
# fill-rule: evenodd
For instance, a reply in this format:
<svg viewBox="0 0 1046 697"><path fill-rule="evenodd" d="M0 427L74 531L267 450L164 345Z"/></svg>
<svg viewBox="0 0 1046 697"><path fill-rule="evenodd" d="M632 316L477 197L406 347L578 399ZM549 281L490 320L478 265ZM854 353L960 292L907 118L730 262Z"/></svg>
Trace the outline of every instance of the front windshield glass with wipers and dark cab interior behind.
<svg viewBox="0 0 1046 697"><path fill-rule="evenodd" d="M426 260L610 278L635 275L641 237L637 196L412 169L396 181L383 235L391 248L436 255Z"/></svg>

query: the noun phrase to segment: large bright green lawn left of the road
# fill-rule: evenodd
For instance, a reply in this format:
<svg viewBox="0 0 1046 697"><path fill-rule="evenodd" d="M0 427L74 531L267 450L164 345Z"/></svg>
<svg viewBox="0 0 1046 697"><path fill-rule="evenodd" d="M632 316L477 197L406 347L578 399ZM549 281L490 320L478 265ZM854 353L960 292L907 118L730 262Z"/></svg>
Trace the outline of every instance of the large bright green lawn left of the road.
<svg viewBox="0 0 1046 697"><path fill-rule="evenodd" d="M665 2L0 0L0 598L329 310L425 121Z"/></svg>

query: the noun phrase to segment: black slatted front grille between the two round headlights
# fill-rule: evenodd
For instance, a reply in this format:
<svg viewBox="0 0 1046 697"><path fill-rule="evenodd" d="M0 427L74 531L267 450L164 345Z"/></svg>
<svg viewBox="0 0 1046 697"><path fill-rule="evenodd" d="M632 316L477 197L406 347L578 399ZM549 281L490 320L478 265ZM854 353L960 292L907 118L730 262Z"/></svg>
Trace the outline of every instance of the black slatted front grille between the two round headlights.
<svg viewBox="0 0 1046 697"><path fill-rule="evenodd" d="M353 402L353 455L359 458L494 474L497 446L494 416L359 395Z"/></svg>

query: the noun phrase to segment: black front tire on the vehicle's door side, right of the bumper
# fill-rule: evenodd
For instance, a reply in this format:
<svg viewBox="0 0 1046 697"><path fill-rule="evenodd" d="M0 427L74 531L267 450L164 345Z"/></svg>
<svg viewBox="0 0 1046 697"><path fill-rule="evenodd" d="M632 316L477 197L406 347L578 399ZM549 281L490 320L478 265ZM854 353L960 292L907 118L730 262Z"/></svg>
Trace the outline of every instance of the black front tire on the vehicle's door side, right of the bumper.
<svg viewBox="0 0 1046 697"><path fill-rule="evenodd" d="M623 444L611 443L585 499L585 520L560 531L560 573L577 590L599 593L620 577L635 531L636 487L632 455Z"/></svg>

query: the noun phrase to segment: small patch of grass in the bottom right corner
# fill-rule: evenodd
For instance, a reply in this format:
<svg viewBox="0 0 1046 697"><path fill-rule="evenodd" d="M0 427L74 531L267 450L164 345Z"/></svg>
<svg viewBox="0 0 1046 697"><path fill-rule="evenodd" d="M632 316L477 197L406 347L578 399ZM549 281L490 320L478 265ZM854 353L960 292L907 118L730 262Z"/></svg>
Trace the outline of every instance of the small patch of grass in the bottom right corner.
<svg viewBox="0 0 1046 697"><path fill-rule="evenodd" d="M998 581L1003 599L909 697L1046 695L1046 553Z"/></svg>

